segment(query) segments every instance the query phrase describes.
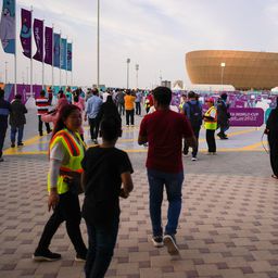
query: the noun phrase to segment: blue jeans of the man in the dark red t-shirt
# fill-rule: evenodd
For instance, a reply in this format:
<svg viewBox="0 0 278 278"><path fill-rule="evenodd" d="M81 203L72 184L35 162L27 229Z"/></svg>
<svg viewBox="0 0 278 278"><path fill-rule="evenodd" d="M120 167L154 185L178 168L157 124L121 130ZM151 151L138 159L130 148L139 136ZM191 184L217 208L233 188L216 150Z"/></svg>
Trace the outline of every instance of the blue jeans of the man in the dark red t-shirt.
<svg viewBox="0 0 278 278"><path fill-rule="evenodd" d="M153 236L162 236L161 205L163 201L164 185L168 200L166 235L177 232L178 218L181 210L181 187L184 181L184 172L170 174L148 169L148 179L150 188L150 215L152 222Z"/></svg>

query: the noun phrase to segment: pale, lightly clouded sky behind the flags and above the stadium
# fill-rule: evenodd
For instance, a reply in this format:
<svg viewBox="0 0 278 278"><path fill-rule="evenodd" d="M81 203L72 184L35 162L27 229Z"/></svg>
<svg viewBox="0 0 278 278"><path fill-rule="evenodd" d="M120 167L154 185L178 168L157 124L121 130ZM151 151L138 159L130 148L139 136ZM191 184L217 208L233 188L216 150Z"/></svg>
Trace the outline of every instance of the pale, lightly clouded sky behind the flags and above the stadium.
<svg viewBox="0 0 278 278"><path fill-rule="evenodd" d="M2 5L2 1L0 0ZM139 87L153 87L163 79L190 80L185 53L201 49L270 51L278 49L277 0L100 0L100 83L126 86L126 59L130 58L130 86L136 86L135 65L139 64ZM74 80L91 86L97 80L97 0L17 0L20 9L33 5L34 17L54 24L74 41ZM17 33L20 30L17 29ZM17 42L17 80L26 80L28 59ZM13 60L0 49L0 79ZM34 79L41 81L41 64L34 62ZM51 68L46 66L46 81ZM59 83L59 71L54 71ZM68 78L70 79L70 78ZM65 83L65 74L62 73Z"/></svg>

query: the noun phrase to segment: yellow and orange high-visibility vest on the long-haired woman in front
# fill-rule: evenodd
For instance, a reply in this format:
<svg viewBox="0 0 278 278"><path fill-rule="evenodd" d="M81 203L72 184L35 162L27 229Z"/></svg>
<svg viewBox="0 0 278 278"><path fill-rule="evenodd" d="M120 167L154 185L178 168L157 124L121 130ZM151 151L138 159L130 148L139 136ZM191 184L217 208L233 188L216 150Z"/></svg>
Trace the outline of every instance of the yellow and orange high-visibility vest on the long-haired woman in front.
<svg viewBox="0 0 278 278"><path fill-rule="evenodd" d="M60 167L60 172L63 174L60 174L58 178L56 191L59 194L68 191L68 186L64 181L64 177L66 176L64 173L68 173L68 176L71 173L83 173L81 161L85 154L85 143L78 132L75 132L75 136L79 139L79 142L66 128L64 128L54 135L49 144L49 150L51 151L56 143L62 142L70 156L68 163L62 164ZM50 191L50 174L48 174L48 191Z"/></svg>

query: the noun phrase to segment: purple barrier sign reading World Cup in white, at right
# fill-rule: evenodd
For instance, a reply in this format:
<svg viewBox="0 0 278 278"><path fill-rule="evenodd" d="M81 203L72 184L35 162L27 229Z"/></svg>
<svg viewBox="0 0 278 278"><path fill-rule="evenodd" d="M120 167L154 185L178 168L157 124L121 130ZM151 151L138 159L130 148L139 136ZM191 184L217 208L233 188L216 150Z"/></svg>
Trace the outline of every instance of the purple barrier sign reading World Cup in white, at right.
<svg viewBox="0 0 278 278"><path fill-rule="evenodd" d="M262 126L264 124L263 109L229 109L230 126Z"/></svg>

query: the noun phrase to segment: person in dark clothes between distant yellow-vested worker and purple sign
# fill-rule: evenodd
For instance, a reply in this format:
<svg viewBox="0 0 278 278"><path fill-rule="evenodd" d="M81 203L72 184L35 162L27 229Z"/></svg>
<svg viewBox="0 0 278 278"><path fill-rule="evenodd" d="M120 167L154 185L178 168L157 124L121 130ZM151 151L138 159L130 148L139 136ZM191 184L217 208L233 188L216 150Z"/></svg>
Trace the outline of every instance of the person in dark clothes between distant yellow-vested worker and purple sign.
<svg viewBox="0 0 278 278"><path fill-rule="evenodd" d="M229 129L229 118L230 113L228 112L229 104L227 103L227 93L224 92L220 96L220 99L217 101L217 124L220 128L220 131L217 136L222 139L228 139L227 135L225 134Z"/></svg>

